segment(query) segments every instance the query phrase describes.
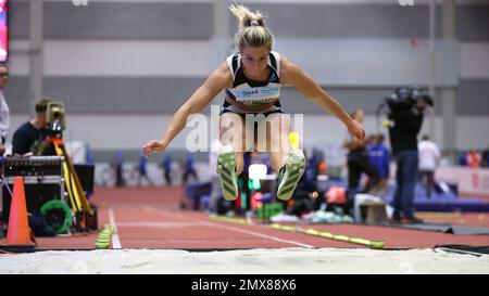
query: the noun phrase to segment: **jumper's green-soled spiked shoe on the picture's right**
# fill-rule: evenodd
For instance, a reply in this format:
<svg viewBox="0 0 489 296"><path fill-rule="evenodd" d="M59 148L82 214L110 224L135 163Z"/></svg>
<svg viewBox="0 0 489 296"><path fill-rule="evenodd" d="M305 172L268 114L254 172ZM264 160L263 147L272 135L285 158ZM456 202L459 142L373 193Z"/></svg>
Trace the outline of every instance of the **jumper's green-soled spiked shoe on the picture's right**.
<svg viewBox="0 0 489 296"><path fill-rule="evenodd" d="M305 169L304 153L294 149L290 152L285 166L278 173L278 190L277 197L283 201L288 201L292 197L296 186L299 183Z"/></svg>

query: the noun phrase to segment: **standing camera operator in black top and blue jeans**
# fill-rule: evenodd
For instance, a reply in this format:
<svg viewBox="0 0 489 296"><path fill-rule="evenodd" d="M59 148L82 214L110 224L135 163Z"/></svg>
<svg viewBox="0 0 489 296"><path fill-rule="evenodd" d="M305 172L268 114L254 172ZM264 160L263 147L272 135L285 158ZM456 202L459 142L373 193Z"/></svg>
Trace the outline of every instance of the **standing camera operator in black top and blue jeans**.
<svg viewBox="0 0 489 296"><path fill-rule="evenodd" d="M423 95L416 89L398 89L387 99L389 107L389 137L392 154L396 157L396 193L393 198L394 223L422 223L414 217L414 188L417 181L418 152L417 134L423 125L424 111L432 105L429 95Z"/></svg>

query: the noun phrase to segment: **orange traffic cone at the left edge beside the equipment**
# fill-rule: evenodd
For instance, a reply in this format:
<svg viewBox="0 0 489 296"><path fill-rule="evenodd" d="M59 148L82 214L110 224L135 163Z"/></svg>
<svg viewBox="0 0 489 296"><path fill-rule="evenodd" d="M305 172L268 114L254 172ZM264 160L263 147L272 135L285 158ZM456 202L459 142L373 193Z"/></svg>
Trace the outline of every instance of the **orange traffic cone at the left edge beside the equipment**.
<svg viewBox="0 0 489 296"><path fill-rule="evenodd" d="M10 205L9 228L7 232L7 245L33 245L27 219L23 177L15 177L14 180L12 203Z"/></svg>

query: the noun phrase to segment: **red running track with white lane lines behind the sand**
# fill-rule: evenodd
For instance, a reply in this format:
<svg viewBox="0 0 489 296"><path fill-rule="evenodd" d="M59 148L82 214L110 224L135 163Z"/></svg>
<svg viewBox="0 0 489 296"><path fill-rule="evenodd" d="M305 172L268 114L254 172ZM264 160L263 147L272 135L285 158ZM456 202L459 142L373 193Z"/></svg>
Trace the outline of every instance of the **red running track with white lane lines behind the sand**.
<svg viewBox="0 0 489 296"><path fill-rule="evenodd" d="M235 249L277 247L364 247L302 233L275 230L269 224L241 226L211 220L202 211L181 210L181 188L97 188L91 202L99 223L113 223L113 248ZM485 214L423 214L434 222L489 227ZM302 224L334 234L384 241L386 248L427 248L438 244L489 245L489 235L454 235L362 224ZM37 237L38 249L92 249L97 233ZM2 244L4 242L0 242Z"/></svg>

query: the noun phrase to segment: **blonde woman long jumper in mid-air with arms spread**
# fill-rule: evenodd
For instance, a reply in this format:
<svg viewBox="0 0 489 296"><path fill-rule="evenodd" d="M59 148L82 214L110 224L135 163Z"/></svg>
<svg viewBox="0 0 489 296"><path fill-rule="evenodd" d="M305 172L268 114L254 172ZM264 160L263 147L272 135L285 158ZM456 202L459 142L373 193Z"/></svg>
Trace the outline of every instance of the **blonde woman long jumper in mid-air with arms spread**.
<svg viewBox="0 0 489 296"><path fill-rule="evenodd" d="M246 134L250 132L246 115L263 114L272 126L280 127L279 149L268 150L268 153L272 167L278 176L277 197L287 201L292 197L304 172L305 157L299 149L290 147L290 123L284 116L279 102L281 86L293 86L305 98L334 114L353 137L363 140L365 131L302 69L286 56L272 51L274 37L259 12L251 12L242 5L230 5L229 9L238 18L239 31L235 36L238 52L228 56L179 107L163 139L149 141L142 151L146 156L151 152L164 151L185 128L187 117L201 112L225 90L226 98L220 117L220 136L224 147L217 157L223 196L228 201L238 197L237 176L243 168L243 153L248 149ZM263 139L266 147L272 146L271 139L276 138L268 132L266 139ZM260 144L264 143L258 143L259 146Z"/></svg>

